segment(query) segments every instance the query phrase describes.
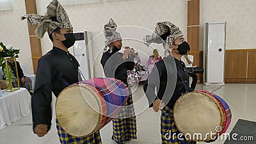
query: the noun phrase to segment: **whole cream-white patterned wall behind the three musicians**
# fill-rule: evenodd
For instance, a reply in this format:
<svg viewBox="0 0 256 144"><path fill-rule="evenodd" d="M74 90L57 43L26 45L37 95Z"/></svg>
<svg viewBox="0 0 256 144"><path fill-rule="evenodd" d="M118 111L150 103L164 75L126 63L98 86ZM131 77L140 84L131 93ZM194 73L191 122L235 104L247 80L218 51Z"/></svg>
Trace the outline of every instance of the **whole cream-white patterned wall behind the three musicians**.
<svg viewBox="0 0 256 144"><path fill-rule="evenodd" d="M51 0L36 0L38 14L44 15L46 6ZM20 21L20 16L26 14L24 1L12 0L13 10L0 11L0 41L20 48L20 58L24 73L31 75L33 66L28 37L27 22ZM254 34L256 33L255 0L201 0L200 1L200 50L203 43L203 27L205 22L227 22L227 49L256 48ZM95 37L103 31L103 26L113 18L118 26L136 25L154 31L156 22L169 20L178 25L186 37L187 1L180 0L131 0L109 1L99 4L83 4L64 6L74 26L74 31L91 31ZM141 31L144 31L142 29ZM119 31L119 28L118 28ZM121 29L120 29L121 31ZM148 31L144 31L145 33ZM122 36L125 34L121 32ZM136 34L136 32L134 32ZM148 33L149 34L149 33ZM142 34L141 34L142 35ZM143 38L139 38L143 40ZM100 50L104 45L104 37L99 36L92 41L93 57L95 59L95 76L102 75L99 64ZM124 41L124 45L137 48L145 54L151 54L151 49L145 49L141 43ZM45 35L42 39L42 52L51 50L52 44ZM158 47L157 47L158 48ZM99 54L99 55L98 55ZM163 52L161 52L163 55ZM99 71L98 71L99 69Z"/></svg>

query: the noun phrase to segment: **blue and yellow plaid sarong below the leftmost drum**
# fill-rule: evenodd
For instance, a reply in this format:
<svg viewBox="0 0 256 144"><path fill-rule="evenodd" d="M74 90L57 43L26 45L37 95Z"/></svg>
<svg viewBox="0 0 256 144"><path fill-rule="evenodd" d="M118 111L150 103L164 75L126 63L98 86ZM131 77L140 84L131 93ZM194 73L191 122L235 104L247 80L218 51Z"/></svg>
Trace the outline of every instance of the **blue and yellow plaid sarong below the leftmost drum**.
<svg viewBox="0 0 256 144"><path fill-rule="evenodd" d="M70 134L66 133L60 126L58 119L56 119L56 127L58 130L58 135L60 138L60 143L68 144L68 143L74 143L74 144L80 144L80 143L87 143L87 144L102 144L101 138L100 138L100 132L97 131L96 133L84 137L84 138L77 138L75 136L71 136Z"/></svg>

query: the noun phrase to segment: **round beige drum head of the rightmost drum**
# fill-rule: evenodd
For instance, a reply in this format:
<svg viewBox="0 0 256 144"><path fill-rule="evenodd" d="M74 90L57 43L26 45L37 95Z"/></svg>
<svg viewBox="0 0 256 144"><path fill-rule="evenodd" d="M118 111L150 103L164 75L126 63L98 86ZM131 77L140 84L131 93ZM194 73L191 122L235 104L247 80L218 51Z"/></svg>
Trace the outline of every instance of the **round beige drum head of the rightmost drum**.
<svg viewBox="0 0 256 144"><path fill-rule="evenodd" d="M195 141L211 140L211 135L207 134L216 133L216 127L222 126L221 115L218 101L202 92L184 94L177 100L173 110L173 118L180 133ZM202 136L198 138L196 134Z"/></svg>

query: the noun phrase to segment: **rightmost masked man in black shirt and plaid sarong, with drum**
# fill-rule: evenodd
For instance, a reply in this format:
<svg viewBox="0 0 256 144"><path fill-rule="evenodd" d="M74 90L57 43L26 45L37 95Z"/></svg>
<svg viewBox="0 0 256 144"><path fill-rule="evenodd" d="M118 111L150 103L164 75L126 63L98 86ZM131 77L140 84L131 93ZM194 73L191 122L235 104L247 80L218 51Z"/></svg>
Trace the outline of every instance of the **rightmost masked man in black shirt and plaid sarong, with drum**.
<svg viewBox="0 0 256 144"><path fill-rule="evenodd" d="M182 94L191 91L188 86L188 71L184 62L180 60L182 55L188 52L189 45L179 27L171 22L158 22L152 38L147 41L163 43L169 54L156 63L143 87L150 106L153 106L155 112L162 111L162 143L196 143L187 141L184 136L179 137L180 132L173 120L175 102ZM156 87L159 87L157 95Z"/></svg>

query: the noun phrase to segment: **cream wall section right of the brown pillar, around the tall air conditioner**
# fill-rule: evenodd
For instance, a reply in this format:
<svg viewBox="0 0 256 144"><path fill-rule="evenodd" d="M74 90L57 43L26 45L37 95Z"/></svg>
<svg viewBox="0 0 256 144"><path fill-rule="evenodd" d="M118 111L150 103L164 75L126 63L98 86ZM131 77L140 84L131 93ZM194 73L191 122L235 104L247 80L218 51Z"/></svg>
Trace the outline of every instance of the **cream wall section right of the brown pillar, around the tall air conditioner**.
<svg viewBox="0 0 256 144"><path fill-rule="evenodd" d="M227 50L256 48L255 6L255 0L201 0L200 50L203 50L206 22L227 22Z"/></svg>

